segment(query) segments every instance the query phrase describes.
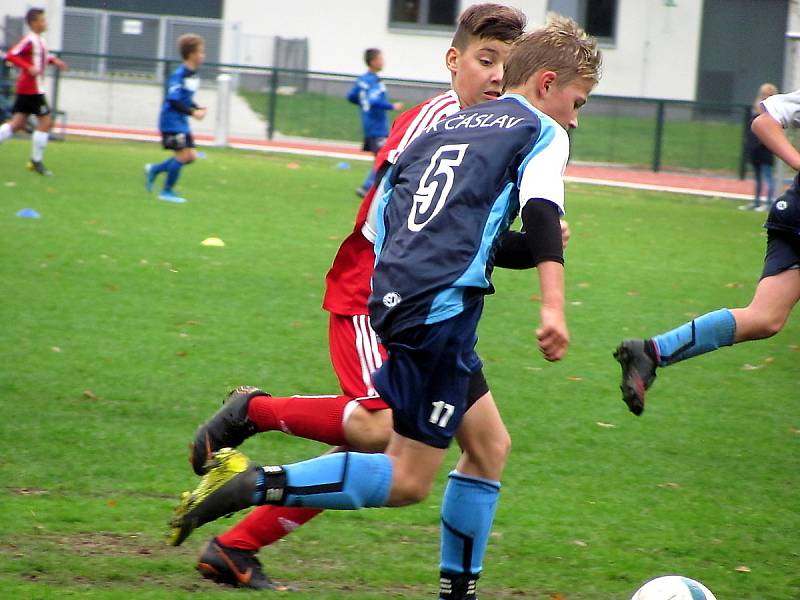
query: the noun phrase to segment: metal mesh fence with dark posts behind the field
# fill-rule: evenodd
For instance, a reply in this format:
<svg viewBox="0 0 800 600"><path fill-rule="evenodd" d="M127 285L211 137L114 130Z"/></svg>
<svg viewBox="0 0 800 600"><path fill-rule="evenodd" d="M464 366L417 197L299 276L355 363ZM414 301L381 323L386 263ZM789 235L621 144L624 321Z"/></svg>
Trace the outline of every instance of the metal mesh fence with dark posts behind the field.
<svg viewBox="0 0 800 600"><path fill-rule="evenodd" d="M96 53L63 52L62 58L72 68L53 78L51 100L70 124L147 129L155 127L165 77L179 64ZM106 68L100 69L101 64ZM358 108L344 99L355 75L207 63L197 101L212 113L215 77L221 73L231 76L234 90L231 136L360 145ZM445 82L384 82L392 101L407 107L448 88ZM748 117L746 105L595 95L581 111L579 128L571 132L572 159L744 177ZM209 121L193 127L213 133Z"/></svg>

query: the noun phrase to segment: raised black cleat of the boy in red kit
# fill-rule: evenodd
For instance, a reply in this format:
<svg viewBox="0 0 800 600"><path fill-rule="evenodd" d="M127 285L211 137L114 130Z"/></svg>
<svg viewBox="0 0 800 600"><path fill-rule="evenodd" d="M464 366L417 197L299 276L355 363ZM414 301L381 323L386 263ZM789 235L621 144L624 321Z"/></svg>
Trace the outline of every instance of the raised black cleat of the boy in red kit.
<svg viewBox="0 0 800 600"><path fill-rule="evenodd" d="M221 409L197 428L191 445L189 462L198 475L208 469L206 462L220 448L236 448L258 433L255 423L247 418L247 407L255 396L269 396L252 386L240 386L228 394Z"/></svg>

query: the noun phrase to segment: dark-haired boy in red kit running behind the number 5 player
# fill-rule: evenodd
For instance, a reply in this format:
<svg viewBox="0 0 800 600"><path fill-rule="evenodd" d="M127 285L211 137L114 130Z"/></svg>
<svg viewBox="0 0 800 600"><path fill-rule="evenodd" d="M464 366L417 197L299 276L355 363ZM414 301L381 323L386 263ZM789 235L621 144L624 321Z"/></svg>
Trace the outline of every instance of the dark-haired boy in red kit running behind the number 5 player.
<svg viewBox="0 0 800 600"><path fill-rule="evenodd" d="M478 4L465 10L453 45L445 54L452 89L398 116L376 156L376 184L364 197L353 231L339 247L326 277L323 308L330 313L331 362L343 394L273 397L255 388L235 390L225 407L197 431L192 464L198 474L203 472L205 458L220 447L215 428L220 420L226 419L243 424L242 441L255 432L283 431L360 451L385 449L392 432L392 412L375 394L371 375L383 364L386 351L372 330L367 310L375 263L374 233L367 217L373 200L377 200L376 189L388 166L426 127L463 108L500 96L503 63L511 43L524 32L525 25L525 15L511 7ZM499 420L491 394L481 387L481 382L486 385L485 381L480 379L475 384L477 402L469 412L476 419ZM500 432L505 432L505 428L500 428ZM230 439L226 445L227 442ZM498 466L504 463L510 443L507 432L485 442L495 455L487 458L487 462L496 462ZM310 508L259 506L209 542L200 556L198 570L223 583L284 590L285 586L263 574L255 554L320 512Z"/></svg>

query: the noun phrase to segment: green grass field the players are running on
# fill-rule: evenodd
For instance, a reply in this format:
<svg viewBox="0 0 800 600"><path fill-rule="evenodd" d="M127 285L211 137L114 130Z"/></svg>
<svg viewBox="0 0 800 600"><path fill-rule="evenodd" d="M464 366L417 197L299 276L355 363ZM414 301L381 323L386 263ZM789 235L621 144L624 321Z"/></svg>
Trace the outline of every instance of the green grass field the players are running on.
<svg viewBox="0 0 800 600"><path fill-rule="evenodd" d="M208 150L173 205L143 189L156 144L52 143L53 178L24 170L28 151L0 147L0 597L232 597L193 567L233 521L163 541L197 481L187 445L236 385L336 391L319 305L365 165ZM611 357L624 336L747 303L762 217L569 186L558 364L535 348L535 274L496 273L479 351L514 447L481 598L627 600L666 573L719 600L800 597L797 318L660 371L641 418ZM277 433L244 449L325 450ZM415 507L325 514L261 558L297 600L433 598L443 480Z"/></svg>

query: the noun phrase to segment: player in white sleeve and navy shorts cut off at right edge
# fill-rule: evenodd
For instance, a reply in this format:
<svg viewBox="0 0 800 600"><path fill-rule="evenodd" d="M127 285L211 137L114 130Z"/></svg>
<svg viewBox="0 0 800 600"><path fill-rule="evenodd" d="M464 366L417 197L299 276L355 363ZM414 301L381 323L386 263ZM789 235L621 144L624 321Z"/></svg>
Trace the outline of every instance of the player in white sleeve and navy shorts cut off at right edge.
<svg viewBox="0 0 800 600"><path fill-rule="evenodd" d="M771 95L760 103L751 125L758 139L795 171L800 152L786 129L800 127L800 90ZM783 329L800 301L800 175L772 205L764 223L767 252L753 299L744 308L721 308L647 340L624 340L614 352L622 367L622 399L635 415L644 411L645 392L656 368L723 346L772 337Z"/></svg>

